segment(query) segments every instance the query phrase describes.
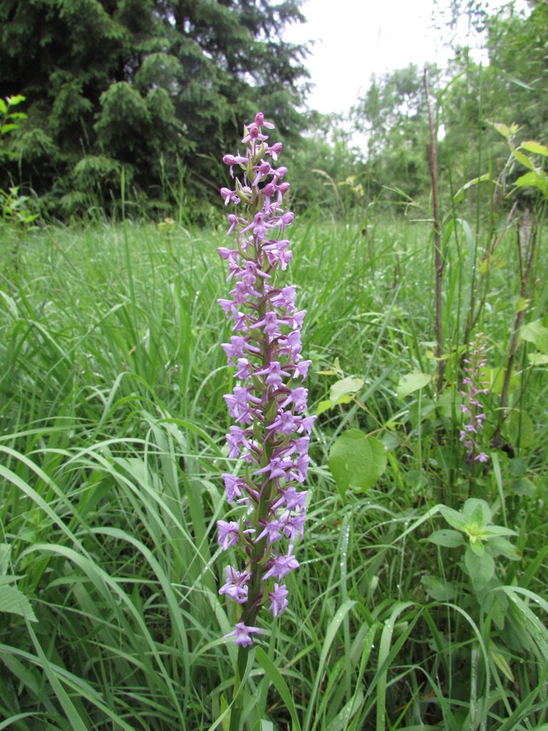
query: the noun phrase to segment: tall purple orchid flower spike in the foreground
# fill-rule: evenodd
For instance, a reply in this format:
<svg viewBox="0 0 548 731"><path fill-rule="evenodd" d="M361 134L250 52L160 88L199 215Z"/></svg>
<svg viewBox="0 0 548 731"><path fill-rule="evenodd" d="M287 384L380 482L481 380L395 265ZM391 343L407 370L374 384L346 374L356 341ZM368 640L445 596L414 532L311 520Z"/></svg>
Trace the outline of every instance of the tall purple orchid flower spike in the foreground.
<svg viewBox="0 0 548 731"><path fill-rule="evenodd" d="M254 624L263 607L277 618L288 605L283 580L299 567L293 554L307 493L297 487L310 463L315 418L305 416L308 390L302 385L311 364L301 355L305 311L295 307L295 287L278 281L292 259L289 240L280 234L294 216L283 208L287 168L273 167L282 143L267 145L262 132L273 126L258 112L244 127L246 155L223 158L231 175L243 170L243 183L236 179L235 190L221 188L225 205L237 206L228 216L235 246L219 249L231 299L219 304L235 332L222 347L236 368L237 385L224 398L235 421L227 434L229 458L239 462L235 474L223 478L227 502L241 504L243 512L240 520L218 521L218 545L237 550L243 565L227 567L219 594L237 605L236 629L225 637L234 637L240 652L260 631Z"/></svg>

